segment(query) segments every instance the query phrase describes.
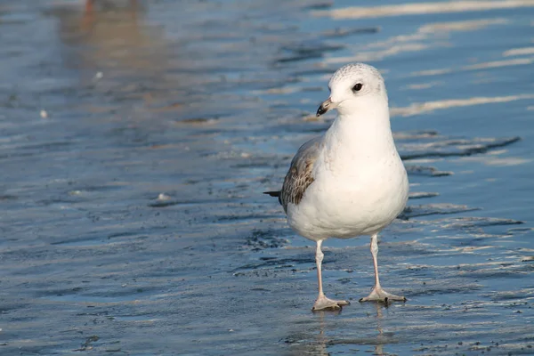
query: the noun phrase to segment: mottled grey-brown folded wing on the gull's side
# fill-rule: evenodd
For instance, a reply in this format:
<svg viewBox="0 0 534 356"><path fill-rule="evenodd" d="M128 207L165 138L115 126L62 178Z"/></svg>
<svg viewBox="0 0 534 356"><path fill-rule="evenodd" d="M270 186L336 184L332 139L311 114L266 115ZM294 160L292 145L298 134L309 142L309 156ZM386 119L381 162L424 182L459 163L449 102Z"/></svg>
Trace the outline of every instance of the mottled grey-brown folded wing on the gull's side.
<svg viewBox="0 0 534 356"><path fill-rule="evenodd" d="M304 143L301 148L296 151L279 195L280 204L284 206L285 212L287 212L287 205L289 203L295 205L300 203L304 191L306 191L314 181L312 175L313 165L319 156L322 145L323 136L319 136Z"/></svg>

